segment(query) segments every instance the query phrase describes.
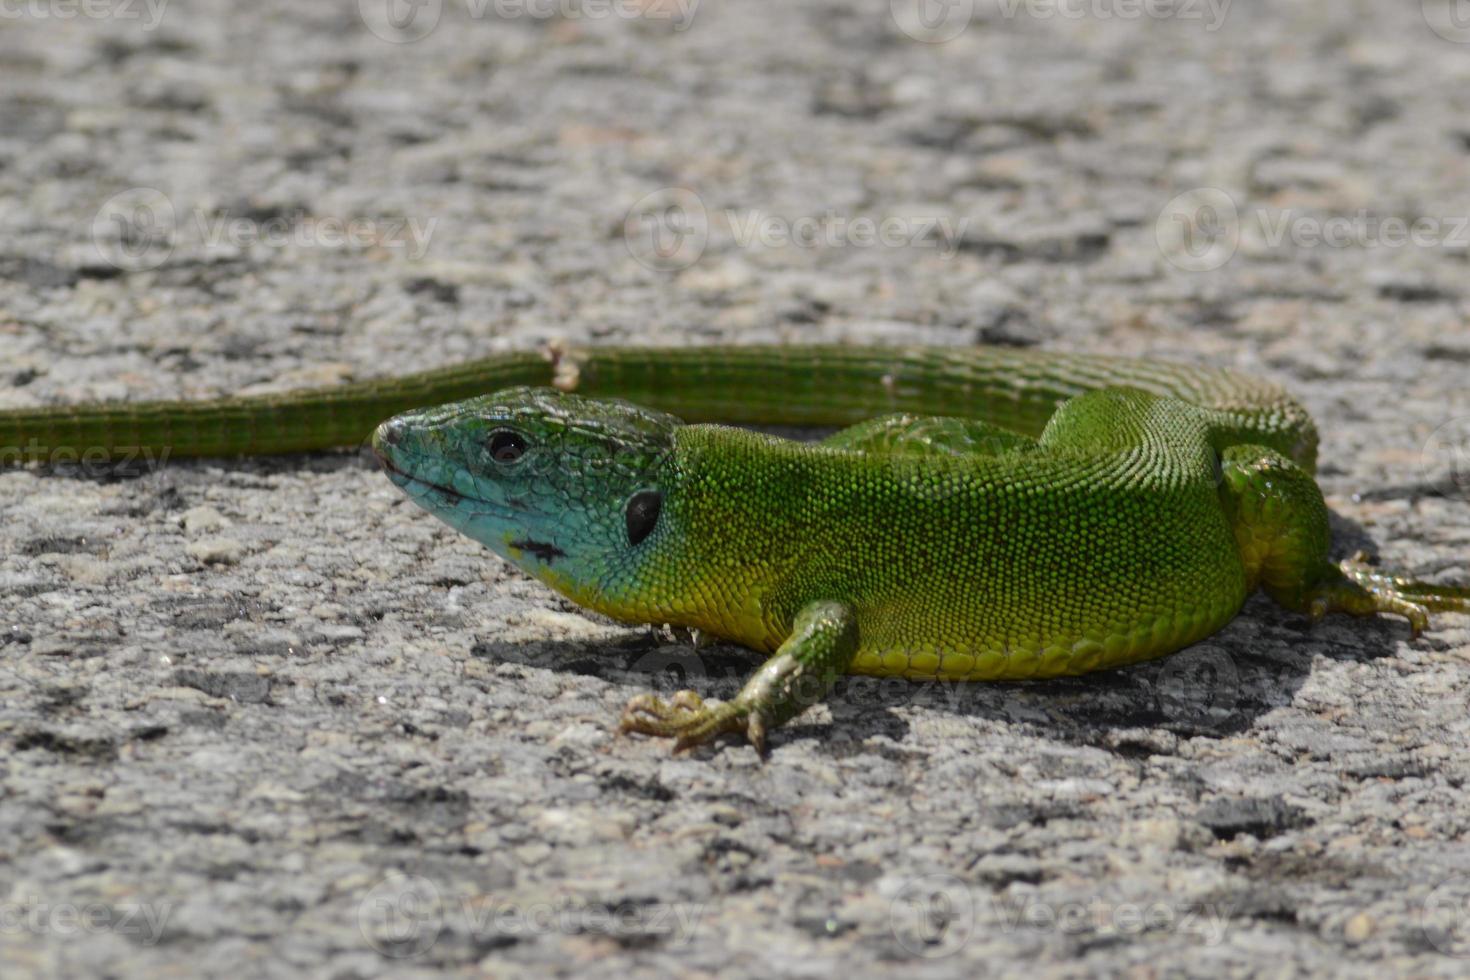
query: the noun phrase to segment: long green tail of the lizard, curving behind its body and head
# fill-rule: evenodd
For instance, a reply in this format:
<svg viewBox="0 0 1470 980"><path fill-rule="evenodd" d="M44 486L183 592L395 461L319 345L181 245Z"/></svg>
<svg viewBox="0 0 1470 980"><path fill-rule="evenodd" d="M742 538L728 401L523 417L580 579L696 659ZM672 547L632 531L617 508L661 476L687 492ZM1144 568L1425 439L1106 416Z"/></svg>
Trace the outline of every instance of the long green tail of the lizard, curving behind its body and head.
<svg viewBox="0 0 1470 980"><path fill-rule="evenodd" d="M914 411L979 417L1032 435L1058 403L1129 385L1232 413L1308 470L1317 453L1301 404L1276 385L1220 369L991 347L689 347L514 353L282 395L0 411L0 466L62 454L104 461L360 445L379 422L409 408L550 383L688 422L848 425Z"/></svg>

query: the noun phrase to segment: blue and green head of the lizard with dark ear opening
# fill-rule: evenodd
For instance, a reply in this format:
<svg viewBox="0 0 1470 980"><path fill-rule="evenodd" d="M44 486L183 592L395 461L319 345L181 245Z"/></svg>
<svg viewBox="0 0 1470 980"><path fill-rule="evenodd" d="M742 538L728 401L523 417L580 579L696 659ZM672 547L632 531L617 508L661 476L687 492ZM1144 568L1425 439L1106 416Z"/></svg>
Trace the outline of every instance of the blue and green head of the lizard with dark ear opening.
<svg viewBox="0 0 1470 980"><path fill-rule="evenodd" d="M416 504L592 607L657 538L678 419L548 388L406 411L372 445Z"/></svg>

